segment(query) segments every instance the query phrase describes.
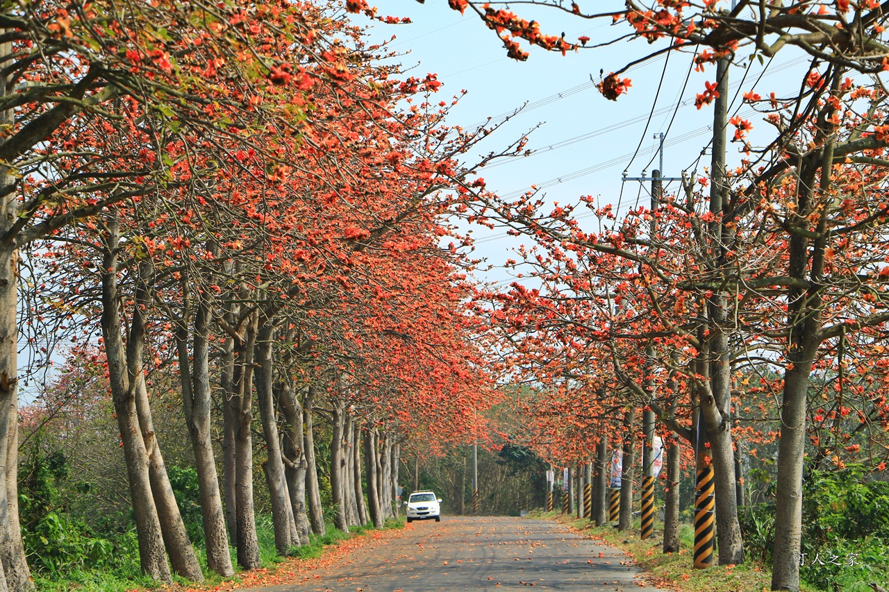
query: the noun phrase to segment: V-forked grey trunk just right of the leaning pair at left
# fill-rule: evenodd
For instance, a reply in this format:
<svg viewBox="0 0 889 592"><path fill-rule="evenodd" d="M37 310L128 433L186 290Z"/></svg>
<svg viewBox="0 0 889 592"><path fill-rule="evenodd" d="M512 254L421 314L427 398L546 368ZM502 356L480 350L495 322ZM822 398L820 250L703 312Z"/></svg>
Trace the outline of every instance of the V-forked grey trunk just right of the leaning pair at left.
<svg viewBox="0 0 889 592"><path fill-rule="evenodd" d="M199 297L194 328L194 361L188 363L188 317L183 316L177 329L179 348L182 408L191 448L195 452L197 489L201 499L201 517L204 522L204 546L207 552L207 568L228 577L235 573L228 553L228 534L225 513L220 497L219 476L216 474L216 458L213 453L211 434L211 389L209 363L210 305L203 294Z"/></svg>

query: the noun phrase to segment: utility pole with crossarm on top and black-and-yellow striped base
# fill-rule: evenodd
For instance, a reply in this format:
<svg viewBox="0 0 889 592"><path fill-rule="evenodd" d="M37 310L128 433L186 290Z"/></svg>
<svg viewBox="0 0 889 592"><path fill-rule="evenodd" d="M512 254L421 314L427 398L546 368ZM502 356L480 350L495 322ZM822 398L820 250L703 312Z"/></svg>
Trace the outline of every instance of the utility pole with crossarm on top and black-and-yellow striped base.
<svg viewBox="0 0 889 592"><path fill-rule="evenodd" d="M657 233L657 216L656 212L661 206L661 196L663 195L663 182L664 181L672 181L678 180L681 181L681 177L662 177L661 172L663 172L664 168L664 138L665 135L662 132L655 133L654 138L659 140L658 144L658 165L659 169L656 169L652 172L651 182L651 222L649 224L649 242L652 244L652 248L655 243L655 234ZM637 180L639 182L645 182L648 180L645 177L645 172L643 172L642 177L624 177L625 181L628 180ZM645 348L645 355L649 358L654 356L653 348L649 345ZM646 389L651 396L654 396L653 393L653 381L646 381ZM641 539L645 540L652 535L654 532L654 422L655 422L654 412L650 407L645 407L645 410L642 412L642 429L645 434L645 444L642 447L642 520L639 536Z"/></svg>

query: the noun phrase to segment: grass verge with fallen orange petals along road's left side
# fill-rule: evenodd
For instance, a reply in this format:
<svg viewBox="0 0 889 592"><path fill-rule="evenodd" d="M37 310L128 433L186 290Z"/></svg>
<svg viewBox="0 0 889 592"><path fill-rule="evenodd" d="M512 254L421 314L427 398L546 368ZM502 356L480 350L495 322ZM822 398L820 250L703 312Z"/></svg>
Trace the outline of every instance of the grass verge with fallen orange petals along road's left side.
<svg viewBox="0 0 889 592"><path fill-rule="evenodd" d="M404 516L399 520L388 520L380 531L398 530L405 526ZM236 567L236 573L229 578L222 578L206 569L206 552L200 541L195 541L197 559L204 570L204 582L195 584L178 576L173 576L173 586L167 586L156 580L143 576L140 572L138 548L121 549L118 561L107 569L73 570L67 572L35 573L34 582L41 592L132 592L133 590L155 590L173 588L179 590L241 588L241 584L249 587L286 583L289 577L300 570L300 566L308 568L309 560L323 558L332 547L342 541L364 537L378 529L372 525L353 526L348 534L340 532L327 524L324 535L310 535L308 545L293 547L288 556L278 555L275 549L275 532L269 516L257 516L257 538L260 543L259 570L244 572ZM229 548L232 564L237 565L236 549Z"/></svg>

